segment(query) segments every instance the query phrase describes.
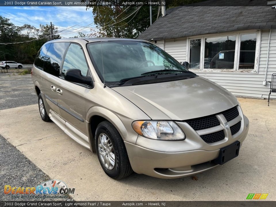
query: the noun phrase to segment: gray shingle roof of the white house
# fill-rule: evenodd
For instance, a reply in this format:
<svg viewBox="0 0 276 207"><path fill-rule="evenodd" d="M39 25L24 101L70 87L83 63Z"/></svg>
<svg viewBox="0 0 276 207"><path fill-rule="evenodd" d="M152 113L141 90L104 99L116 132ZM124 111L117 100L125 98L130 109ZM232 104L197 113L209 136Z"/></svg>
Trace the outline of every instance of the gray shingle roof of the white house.
<svg viewBox="0 0 276 207"><path fill-rule="evenodd" d="M166 11L138 39L160 40L248 29L276 29L276 9L259 7L187 6Z"/></svg>

